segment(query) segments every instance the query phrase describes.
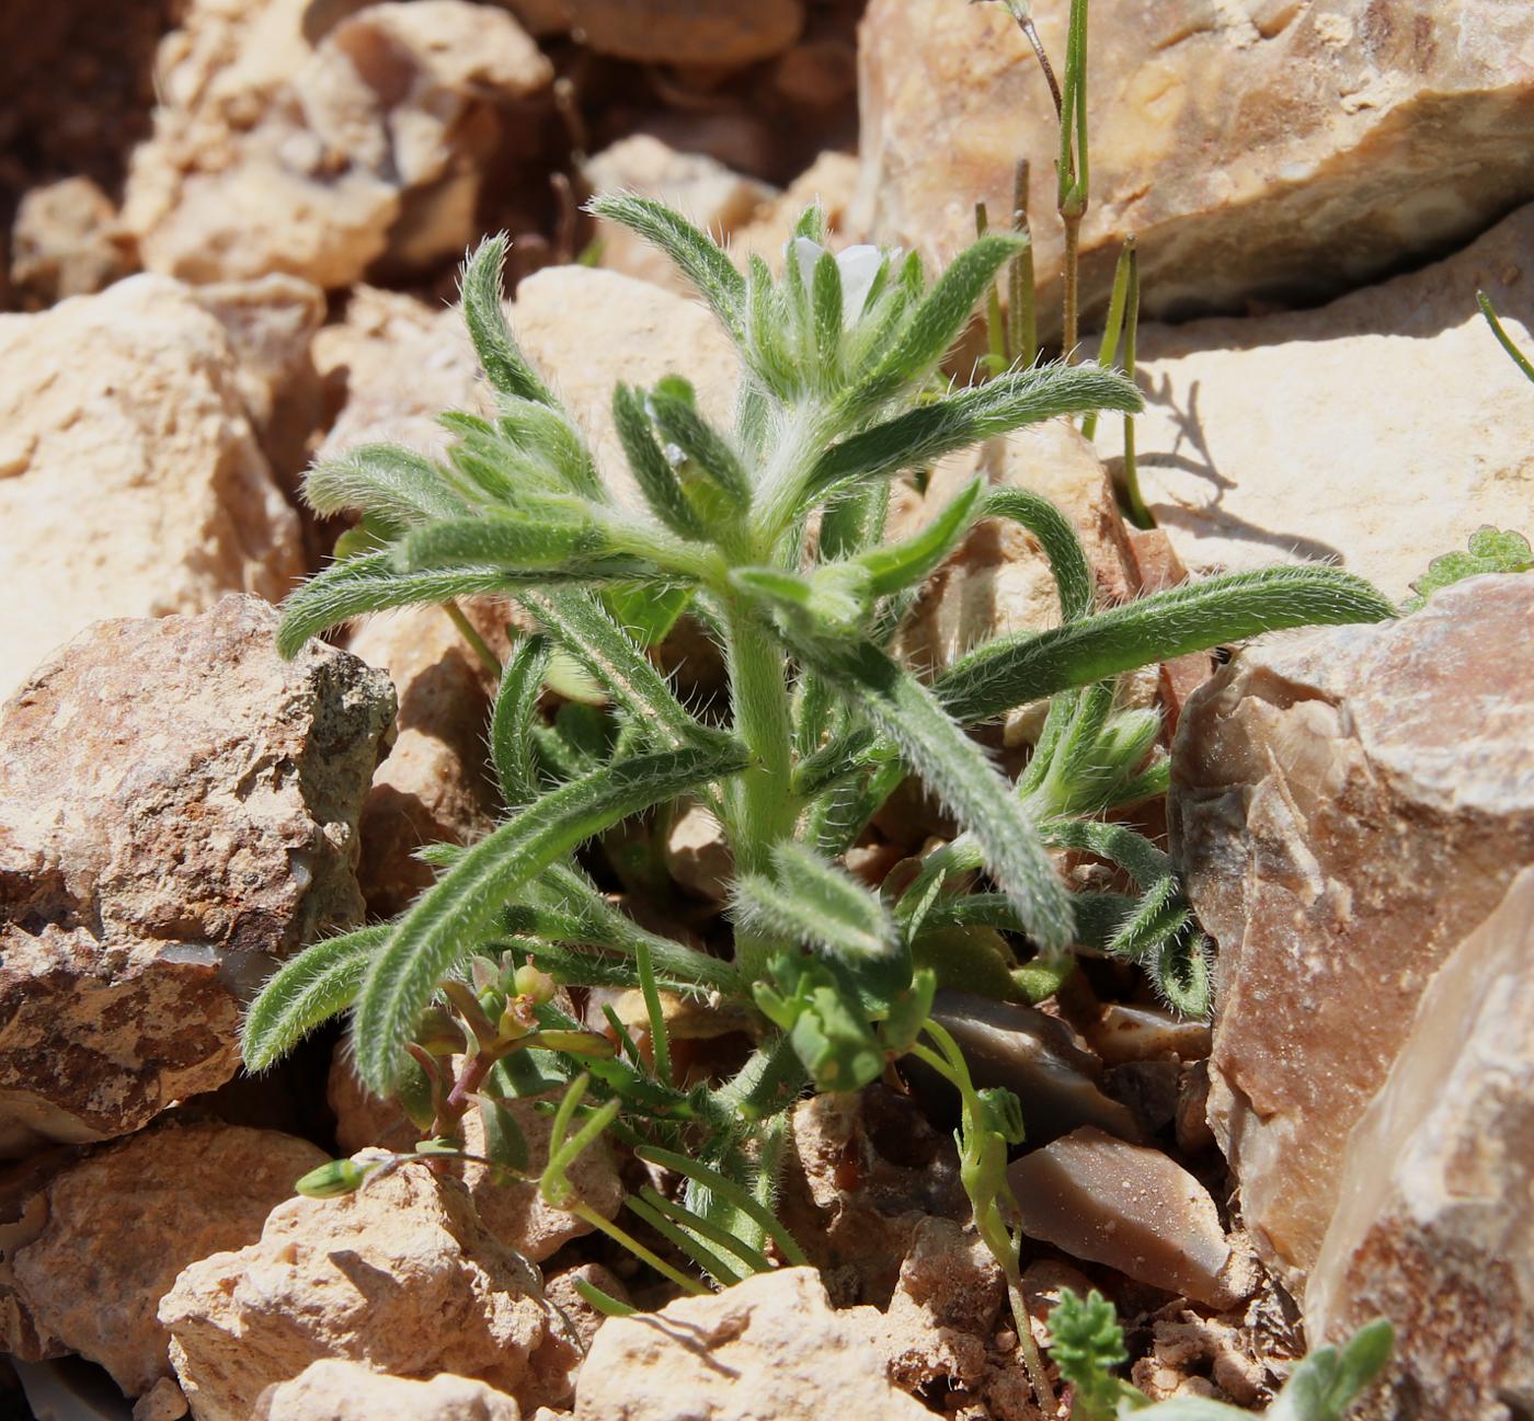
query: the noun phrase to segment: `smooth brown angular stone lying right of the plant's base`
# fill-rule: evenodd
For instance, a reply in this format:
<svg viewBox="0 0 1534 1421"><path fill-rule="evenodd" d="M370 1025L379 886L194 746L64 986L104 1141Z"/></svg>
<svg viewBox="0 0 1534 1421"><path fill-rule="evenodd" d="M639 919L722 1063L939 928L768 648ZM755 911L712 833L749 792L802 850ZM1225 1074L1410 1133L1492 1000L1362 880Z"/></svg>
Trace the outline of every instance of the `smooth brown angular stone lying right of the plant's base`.
<svg viewBox="0 0 1534 1421"><path fill-rule="evenodd" d="M1212 1307L1235 1301L1215 1202L1160 1149L1088 1125L1014 1160L1006 1179L1029 1238Z"/></svg>

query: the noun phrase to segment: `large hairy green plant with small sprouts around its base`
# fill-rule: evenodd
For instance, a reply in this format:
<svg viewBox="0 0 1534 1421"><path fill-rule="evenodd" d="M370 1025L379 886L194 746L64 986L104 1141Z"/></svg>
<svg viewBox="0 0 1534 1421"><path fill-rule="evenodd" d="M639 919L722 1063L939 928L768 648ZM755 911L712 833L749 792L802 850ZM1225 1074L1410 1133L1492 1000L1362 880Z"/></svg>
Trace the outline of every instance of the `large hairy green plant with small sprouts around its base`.
<svg viewBox="0 0 1534 1421"><path fill-rule="evenodd" d="M756 258L738 270L661 204L614 196L595 210L670 256L729 335L733 419L710 420L684 373L618 385L612 419L634 486L620 497L508 328L503 242L472 256L463 316L494 413L443 414L454 442L440 462L370 445L310 473L318 511L357 509L362 523L353 556L288 600L281 649L384 608L515 602L537 631L514 645L489 724L505 819L471 847L430 850L439 878L397 921L285 964L249 1013L245 1060L265 1068L350 1010L362 1082L400 1102L422 1131L411 1157L439 1168L463 1156L463 1120L477 1111L483 1157L523 1175L508 1100L549 1097L546 1197L698 1292L703 1278L729 1284L804 1260L772 1209L793 1102L897 1082L914 1056L959 1093L963 1180L1016 1298L1003 1166L1028 1103L973 1086L931 1020L936 988L974 981L966 954L991 954L982 965L996 994L1042 999L1091 948L1138 964L1164 1001L1203 1013L1206 950L1167 858L1106 818L1167 783L1157 715L1115 709L1115 678L1272 628L1382 620L1393 608L1332 568L1241 572L1098 606L1071 523L980 479L927 526L887 540L894 479L1022 425L1140 405L1131 381L1095 364L1011 368L969 388L939 374L1022 239L982 236L928 281L914 255L833 255L811 207L775 278ZM1060 625L997 637L923 683L890 643L916 589L983 519L1037 539ZM727 695L709 714L684 704L649 655L684 609L723 649ZM548 721L555 658L566 678L572 664L584 672L600 707ZM1045 698L1037 750L1012 781L969 727ZM911 775L959 833L904 889L881 892L844 855ZM597 859L581 856L621 821L687 800L718 818L733 858L730 933L715 950L627 916L592 876ZM1117 865L1120 890L1069 893L1058 849ZM1012 944L1012 961L996 961L997 941ZM583 987L638 988L644 1048L611 1010L607 1031L575 1019L561 988ZM663 994L749 1022L744 1065L701 1080L678 1071ZM673 1258L578 1198L566 1171L601 1133L683 1182L676 1197L626 1200ZM391 1165L337 1162L305 1188L354 1188ZM1019 1317L1045 1396L1020 1306Z"/></svg>

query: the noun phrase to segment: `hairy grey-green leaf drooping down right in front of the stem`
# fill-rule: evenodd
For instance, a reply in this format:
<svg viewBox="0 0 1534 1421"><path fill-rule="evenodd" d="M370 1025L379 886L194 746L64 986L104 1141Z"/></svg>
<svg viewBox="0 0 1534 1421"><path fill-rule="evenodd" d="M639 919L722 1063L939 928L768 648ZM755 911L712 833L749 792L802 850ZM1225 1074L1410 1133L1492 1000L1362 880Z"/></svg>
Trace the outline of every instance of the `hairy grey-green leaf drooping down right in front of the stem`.
<svg viewBox="0 0 1534 1421"><path fill-rule="evenodd" d="M1046 953L1071 944L1071 901L1045 855L1039 829L1000 770L933 694L870 643L804 643L799 655L859 701L905 761L968 826L997 884L1017 904Z"/></svg>

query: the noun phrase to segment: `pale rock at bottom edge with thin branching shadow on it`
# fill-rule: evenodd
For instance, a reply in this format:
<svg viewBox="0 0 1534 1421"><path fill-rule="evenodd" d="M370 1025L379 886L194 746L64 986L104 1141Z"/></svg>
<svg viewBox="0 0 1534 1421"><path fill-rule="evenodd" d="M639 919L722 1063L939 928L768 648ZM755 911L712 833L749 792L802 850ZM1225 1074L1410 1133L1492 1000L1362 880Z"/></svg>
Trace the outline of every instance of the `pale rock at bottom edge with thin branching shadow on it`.
<svg viewBox="0 0 1534 1421"><path fill-rule="evenodd" d="M597 1334L575 1387L575 1421L930 1415L887 1380L867 1318L833 1312L810 1268L614 1318Z"/></svg>

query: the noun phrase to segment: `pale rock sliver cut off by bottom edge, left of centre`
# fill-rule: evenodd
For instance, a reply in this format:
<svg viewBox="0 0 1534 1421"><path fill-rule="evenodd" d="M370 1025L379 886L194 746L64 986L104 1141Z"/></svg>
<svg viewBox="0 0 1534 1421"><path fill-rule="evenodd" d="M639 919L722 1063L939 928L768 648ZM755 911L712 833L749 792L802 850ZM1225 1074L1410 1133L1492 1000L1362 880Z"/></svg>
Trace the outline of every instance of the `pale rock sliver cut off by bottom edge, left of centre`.
<svg viewBox="0 0 1534 1421"><path fill-rule="evenodd" d="M430 1381L385 1376L359 1361L311 1361L262 1393L250 1421L522 1421L514 1396L443 1372Z"/></svg>

